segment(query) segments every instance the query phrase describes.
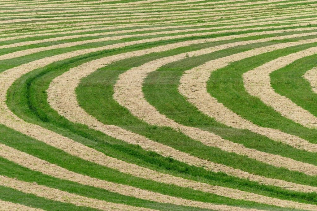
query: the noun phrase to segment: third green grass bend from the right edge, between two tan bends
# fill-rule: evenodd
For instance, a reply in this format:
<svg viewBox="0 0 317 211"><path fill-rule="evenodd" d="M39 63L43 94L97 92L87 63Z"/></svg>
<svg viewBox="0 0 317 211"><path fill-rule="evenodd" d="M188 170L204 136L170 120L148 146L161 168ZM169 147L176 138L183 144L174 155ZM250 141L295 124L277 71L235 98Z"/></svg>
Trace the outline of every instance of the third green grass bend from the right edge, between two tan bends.
<svg viewBox="0 0 317 211"><path fill-rule="evenodd" d="M241 47L237 48L242 49ZM235 50L233 50L233 53L236 53ZM248 130L235 129L217 123L213 118L209 118L199 112L197 108L186 101L185 97L178 93L179 78L183 72L209 61L209 58L215 57L214 54L216 53L186 58L185 60L165 65L158 71L149 74L143 88L145 98L161 113L183 125L210 131L227 140L243 144L248 148L316 164L315 153L297 150Z"/></svg>

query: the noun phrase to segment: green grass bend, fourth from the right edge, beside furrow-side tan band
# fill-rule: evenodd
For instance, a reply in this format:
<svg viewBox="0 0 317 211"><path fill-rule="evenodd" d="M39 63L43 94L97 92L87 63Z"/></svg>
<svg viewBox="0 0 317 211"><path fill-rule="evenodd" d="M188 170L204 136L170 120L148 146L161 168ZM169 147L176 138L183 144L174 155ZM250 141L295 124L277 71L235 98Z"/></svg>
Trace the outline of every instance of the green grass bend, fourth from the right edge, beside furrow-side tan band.
<svg viewBox="0 0 317 211"><path fill-rule="evenodd" d="M164 54L167 54L167 53L164 53ZM210 57L210 55L209 55L209 57ZM196 57L195 59L197 59L197 58L198 57ZM145 63L143 61L143 57L138 57L137 61L141 61L141 62L137 62L137 64L133 65L133 67L138 66L140 63L141 64ZM189 152L190 154L196 155L198 157L203 157L207 160L208 159L210 159L212 161L216 160L217 163L225 163L227 165L229 163L229 165L231 165L231 166L233 165L234 167L242 168L244 170L247 169L247 171L250 171L250 169L248 169L249 167L246 167L248 165L250 165L251 168L252 168L252 166L253 166L253 168L255 168L255 166L256 166L256 169L260 169L259 166L261 166L262 163L261 164L257 163L256 165L255 165L255 163L252 163L252 164L242 163L243 161L241 161L241 160L248 160L249 162L251 162L250 161L251 159L248 159L248 158L245 158L242 156L242 157L240 157L239 161L237 161L238 156L236 156L235 154L231 154L231 156L233 156L233 157L228 159L228 157L230 156L230 153L222 152L221 150L217 150L217 149L214 149L211 147L206 147L203 144L200 144L199 142L195 142L191 139L187 139L188 141L185 143L184 138L173 140L171 138L172 137L171 135L163 136L162 134L159 134L157 137L154 137L153 131L149 130L149 129L153 128L153 126L146 125L144 122L138 121L136 118L134 118L134 122L136 122L136 123L133 123L133 124L131 123L131 125L127 125L127 123L130 123L132 121L130 119L133 119L133 117L131 117L131 114L129 112L127 112L126 109L122 108L120 105L118 105L112 99L112 94L113 94L112 85L113 84L108 84L108 83L111 80L112 80L112 83L114 83L115 80L117 79L118 75L120 73L122 73L123 71L128 70L130 68L131 64L134 64L134 63L136 63L135 59L128 59L127 61L120 61L120 62L115 63L117 66L119 66L119 64L121 64L119 67L109 65L105 69L100 70L100 72L98 71L99 74L97 74L97 72L96 72L96 73L92 74L91 76L88 76L87 78L85 78L82 81L82 85L80 85L79 88L77 88L77 95L78 95L80 105L84 109L86 109L89 114L98 118L100 121L104 122L105 124L114 124L114 125L121 126L125 129L142 134L142 135L144 135L152 140L155 140L158 142L163 142L163 144L170 145L170 146L172 146L176 149L179 149L181 151ZM129 64L129 65L128 65L128 67L126 67L124 64ZM109 75L113 74L112 73L113 71L111 71L113 69L111 69L111 68L113 68L114 70L120 70L120 71L118 71L118 73L115 74L115 76L112 76L112 77L115 77L113 79L108 78ZM106 70L108 70L108 71L106 71ZM98 80L100 80L100 78L104 79L104 80L101 80L100 83L106 83L106 84L102 84L102 85L96 84L95 86L93 86L96 82L94 82L92 85L91 81L98 82ZM93 87L86 88L89 85L93 86ZM159 85L161 86L161 83L159 83ZM110 87L108 87L108 86L110 86ZM152 86L152 84L151 84L151 86ZM98 96L102 96L102 98L98 98ZM108 97L106 98L105 96L108 96ZM161 100L159 100L159 101L164 102ZM116 107L114 107L113 105L115 105ZM119 108L120 108L120 110L119 110ZM98 112L96 112L96 111L98 111ZM124 117L119 119L117 113L124 114ZM142 126L142 125L147 126L149 128L148 131L146 131L146 129L144 128L145 126ZM158 130L158 128L159 127L155 126L155 130ZM171 145L172 141L173 141L173 145ZM184 143L182 143L182 142L184 142ZM273 142L273 143L275 143L275 142ZM193 144L193 145L191 145L191 144ZM200 149L197 149L198 146L200 147ZM294 150L291 147L288 147L288 149L290 149L291 151ZM188 150L190 150L190 151L188 151ZM298 150L295 150L295 152L298 152ZM314 158L314 153L309 153L309 154L311 154L310 157ZM311 160L314 160L314 159L311 159ZM311 160L309 160L309 161L312 162ZM268 167L263 166L262 168L266 169ZM274 172L275 170L272 170L272 171ZM257 174L259 174L258 171L259 170L257 170L257 172L256 172ZM252 170L251 170L251 172L252 172ZM285 174L287 174L287 173L285 173ZM278 175L276 175L276 176L279 177ZM272 177L272 173L269 174L269 177ZM285 179L285 178L283 178L283 179Z"/></svg>

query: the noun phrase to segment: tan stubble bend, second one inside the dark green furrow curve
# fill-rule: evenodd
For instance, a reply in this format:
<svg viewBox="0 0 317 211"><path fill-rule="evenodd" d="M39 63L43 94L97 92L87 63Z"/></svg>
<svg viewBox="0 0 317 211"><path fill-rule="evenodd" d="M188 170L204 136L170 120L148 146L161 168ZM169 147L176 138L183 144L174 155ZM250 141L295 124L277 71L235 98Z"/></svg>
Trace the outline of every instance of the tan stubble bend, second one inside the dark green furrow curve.
<svg viewBox="0 0 317 211"><path fill-rule="evenodd" d="M294 35L286 36L286 37L294 37ZM217 38L215 38L215 40L217 40ZM301 43L311 43L311 42L317 42L317 39L293 42L289 45L294 46ZM235 46L235 44L230 43L230 44L224 44L222 46L197 50L197 51L191 52L191 54L196 56L203 55L203 54L215 52L218 50L230 48L231 46ZM287 46L287 44L279 45L280 48L284 48L284 46ZM263 49L263 52L269 52L269 51L275 50L276 48L274 48L274 46L272 47L269 46L269 47L264 47L262 49ZM244 52L239 55L252 56L252 55L256 55L256 52L258 52L257 49L253 51L248 51L247 53ZM120 105L125 106L133 115L135 115L136 117L140 119L145 120L147 123L152 125L169 126L171 128L174 128L175 130L180 130L187 136L197 141L200 141L203 144L206 144L208 146L218 147L224 151L246 155L250 158L274 165L276 167L288 168L290 170L303 172L307 175L317 174L317 167L312 164L295 161L291 158L281 157L279 155L268 154L268 153L258 151L255 149L249 149L244 147L242 144L237 144L237 143L230 142L228 140L224 140L220 136L217 136L207 131L203 131L199 128L194 128L194 127L178 124L172 119L169 119L165 117L164 115L160 114L155 109L154 106L150 105L144 99L144 94L142 93L143 80L146 78L146 76L150 72L155 71L156 69L158 69L159 67L165 64L184 59L185 55L186 54L184 53L184 54L166 57L164 59L154 60L144 65L141 65L140 67L132 68L126 71L125 73L121 74L119 76L119 80L114 86L114 99L116 99ZM236 57L236 54L233 55L233 57ZM236 58L241 58L241 57L236 57ZM227 64L223 63L221 65L225 66Z"/></svg>

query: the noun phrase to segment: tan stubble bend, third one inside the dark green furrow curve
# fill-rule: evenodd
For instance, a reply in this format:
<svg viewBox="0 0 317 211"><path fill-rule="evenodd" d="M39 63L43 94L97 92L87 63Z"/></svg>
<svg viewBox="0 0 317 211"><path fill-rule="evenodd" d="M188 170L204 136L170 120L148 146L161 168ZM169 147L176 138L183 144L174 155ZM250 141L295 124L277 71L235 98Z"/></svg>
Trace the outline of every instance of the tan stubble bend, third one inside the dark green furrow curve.
<svg viewBox="0 0 317 211"><path fill-rule="evenodd" d="M292 45L292 43L279 44L276 49L286 48L289 46L289 44ZM256 51L256 54L252 54L251 56L262 53L262 51ZM236 113L230 111L227 107L219 103L216 98L212 97L207 92L207 80L209 79L211 72L227 66L230 62L242 60L244 58L243 55L245 55L245 53L230 55L217 60L209 61L199 67L185 71L180 80L181 84L178 87L179 92L186 96L186 99L195 105L201 112L212 118L215 118L217 121L225 125L240 129L248 129L277 142L281 141L285 144L289 144L297 149L317 152L316 144L309 143L300 137L290 135L276 129L264 128L255 125L252 122L241 118ZM252 79L252 77L255 77L255 75L249 75L249 78ZM253 84L253 86L256 87L258 85ZM254 93L257 91L254 91Z"/></svg>

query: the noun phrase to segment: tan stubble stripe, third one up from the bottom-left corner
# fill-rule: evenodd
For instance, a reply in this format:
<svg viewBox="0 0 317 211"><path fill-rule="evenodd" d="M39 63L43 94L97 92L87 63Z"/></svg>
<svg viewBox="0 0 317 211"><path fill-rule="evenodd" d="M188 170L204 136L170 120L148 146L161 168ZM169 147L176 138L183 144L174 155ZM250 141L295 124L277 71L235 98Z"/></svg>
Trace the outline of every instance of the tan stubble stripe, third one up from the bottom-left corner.
<svg viewBox="0 0 317 211"><path fill-rule="evenodd" d="M239 210L238 207L229 207L224 205L215 205L215 204L209 204L209 203L198 202L198 201L190 201L190 200L185 200L182 198L171 197L168 195L157 194L151 191L146 191L146 190L134 188L131 186L125 186L125 185L115 184L115 183L111 183L111 182L107 182L103 180L98 180L96 178L91 178L89 176L84 176L84 175L80 175L80 174L76 174L74 172L68 171L67 169L63 169L52 163L47 163L46 161L30 156L28 154L25 154L13 148L7 147L5 145L0 145L0 147L1 147L0 156L5 157L8 160L12 160L12 162L18 163L20 165L23 165L35 171L40 171L43 174L60 177L62 179L67 179L67 180L78 182L84 185L107 189L109 191L116 192L122 195L129 195L136 198L143 198L146 200L158 201L163 203L171 203L171 204L178 204L183 206L217 209L217 210ZM215 188L220 189L221 187L215 187ZM230 189L228 189L227 191L230 192ZM243 193L241 191L241 192L238 192L237 194L243 194L246 196L249 193ZM250 194L249 196L250 199L259 198L259 197L262 197L262 196L252 195L252 194ZM263 197L262 201L266 201L266 202L272 201L271 203L277 202L276 204L278 205L289 203L288 201L278 201L275 199L270 199L268 197ZM273 202L273 201L276 201L276 202ZM297 203L293 204L293 206L295 207L298 205L299 204Z"/></svg>

